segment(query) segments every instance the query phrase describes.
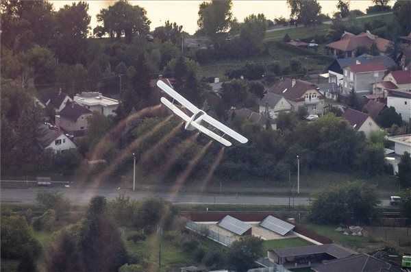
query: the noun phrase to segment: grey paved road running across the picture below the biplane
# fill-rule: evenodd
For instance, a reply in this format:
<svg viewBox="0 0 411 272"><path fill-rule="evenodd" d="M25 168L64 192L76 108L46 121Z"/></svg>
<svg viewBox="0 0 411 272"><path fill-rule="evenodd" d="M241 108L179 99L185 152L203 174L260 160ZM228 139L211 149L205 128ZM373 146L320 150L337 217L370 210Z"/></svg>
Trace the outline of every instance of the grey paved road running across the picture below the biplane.
<svg viewBox="0 0 411 272"><path fill-rule="evenodd" d="M114 199L119 196L119 190L116 189L78 189L78 188L2 188L0 200L9 203L34 203L36 193L40 190L59 190L63 192L65 197L69 198L74 204L86 204L95 195L103 195L108 199ZM161 197L173 203L219 203L219 204L271 204L271 205L288 205L288 197L275 196L259 196L259 195L219 195L219 194L196 194L196 193L181 193L173 195L171 193L150 193L132 192L129 190L121 190L121 193L135 200L147 199L149 197ZM295 197L295 205L308 205L310 198ZM292 199L291 199L292 204ZM382 201L383 206L388 206L388 200Z"/></svg>

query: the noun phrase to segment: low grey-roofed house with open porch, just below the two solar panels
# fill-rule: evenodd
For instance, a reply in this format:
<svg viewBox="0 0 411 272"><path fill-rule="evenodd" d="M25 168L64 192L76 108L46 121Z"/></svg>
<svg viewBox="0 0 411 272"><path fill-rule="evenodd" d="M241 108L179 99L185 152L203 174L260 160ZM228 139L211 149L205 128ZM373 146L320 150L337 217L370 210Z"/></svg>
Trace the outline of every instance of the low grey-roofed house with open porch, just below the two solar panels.
<svg viewBox="0 0 411 272"><path fill-rule="evenodd" d="M269 260L275 264L282 264L286 268L312 267L325 260L338 260L352 254L356 252L336 244L288 247L271 249L267 252Z"/></svg>

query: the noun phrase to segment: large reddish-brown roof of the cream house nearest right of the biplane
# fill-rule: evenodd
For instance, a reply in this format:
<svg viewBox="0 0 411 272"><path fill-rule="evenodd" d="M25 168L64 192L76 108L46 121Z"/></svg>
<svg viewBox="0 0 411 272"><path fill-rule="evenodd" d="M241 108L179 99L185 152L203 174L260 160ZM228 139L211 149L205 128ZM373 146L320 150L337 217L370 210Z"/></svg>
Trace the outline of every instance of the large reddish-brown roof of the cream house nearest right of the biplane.
<svg viewBox="0 0 411 272"><path fill-rule="evenodd" d="M274 92L286 99L298 101L306 93L307 90L316 90L318 88L315 84L303 81L301 79L295 80L295 86L292 86L292 79L285 78L281 82L274 84L269 92ZM321 98L321 97L319 97Z"/></svg>

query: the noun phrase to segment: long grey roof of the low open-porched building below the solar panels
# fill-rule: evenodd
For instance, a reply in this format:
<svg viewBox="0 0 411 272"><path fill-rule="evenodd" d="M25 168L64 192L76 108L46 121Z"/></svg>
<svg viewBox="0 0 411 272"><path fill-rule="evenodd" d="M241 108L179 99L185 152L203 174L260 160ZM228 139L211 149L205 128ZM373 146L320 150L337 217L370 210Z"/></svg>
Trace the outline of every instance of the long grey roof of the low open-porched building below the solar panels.
<svg viewBox="0 0 411 272"><path fill-rule="evenodd" d="M355 251L346 249L345 247L341 247L340 245L336 244L306 245L304 247L288 247L285 249L272 249L270 251L274 252L277 256L282 258L325 253L339 259L351 256L352 254L356 254Z"/></svg>

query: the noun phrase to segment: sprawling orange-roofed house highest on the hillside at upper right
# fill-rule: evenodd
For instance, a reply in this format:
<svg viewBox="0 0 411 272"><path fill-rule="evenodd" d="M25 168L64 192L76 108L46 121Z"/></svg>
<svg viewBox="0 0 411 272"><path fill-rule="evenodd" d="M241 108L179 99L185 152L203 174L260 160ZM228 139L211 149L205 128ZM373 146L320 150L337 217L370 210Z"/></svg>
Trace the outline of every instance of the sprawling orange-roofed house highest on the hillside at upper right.
<svg viewBox="0 0 411 272"><path fill-rule="evenodd" d="M358 35L344 32L340 40L326 45L329 53L338 58L350 58L356 55L359 48L371 49L375 45L379 52L384 53L392 42L371 34L368 30Z"/></svg>

